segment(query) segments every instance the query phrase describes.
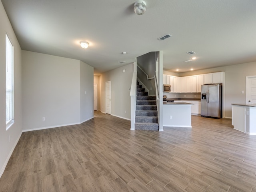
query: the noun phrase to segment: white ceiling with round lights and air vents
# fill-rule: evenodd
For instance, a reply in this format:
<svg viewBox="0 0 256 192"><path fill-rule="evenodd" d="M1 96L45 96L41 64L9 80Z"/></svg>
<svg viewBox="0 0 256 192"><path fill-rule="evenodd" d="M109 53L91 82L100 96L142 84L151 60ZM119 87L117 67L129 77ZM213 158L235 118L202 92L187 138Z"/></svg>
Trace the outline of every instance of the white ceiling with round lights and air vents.
<svg viewBox="0 0 256 192"><path fill-rule="evenodd" d="M256 0L2 0L22 50L82 60L102 73L163 50L176 72L256 61ZM171 34L159 41L157 38ZM80 41L89 42L82 49ZM194 51L197 59L184 62ZM127 52L127 54L122 54ZM120 61L125 61L120 64Z"/></svg>

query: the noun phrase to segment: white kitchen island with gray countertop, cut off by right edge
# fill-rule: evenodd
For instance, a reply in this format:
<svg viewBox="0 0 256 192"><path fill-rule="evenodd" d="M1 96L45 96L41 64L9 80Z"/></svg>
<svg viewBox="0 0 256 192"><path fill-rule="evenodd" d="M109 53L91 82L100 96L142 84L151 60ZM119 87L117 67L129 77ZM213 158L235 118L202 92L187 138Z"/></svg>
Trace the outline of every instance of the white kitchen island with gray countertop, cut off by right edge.
<svg viewBox="0 0 256 192"><path fill-rule="evenodd" d="M234 129L256 135L256 104L231 104Z"/></svg>

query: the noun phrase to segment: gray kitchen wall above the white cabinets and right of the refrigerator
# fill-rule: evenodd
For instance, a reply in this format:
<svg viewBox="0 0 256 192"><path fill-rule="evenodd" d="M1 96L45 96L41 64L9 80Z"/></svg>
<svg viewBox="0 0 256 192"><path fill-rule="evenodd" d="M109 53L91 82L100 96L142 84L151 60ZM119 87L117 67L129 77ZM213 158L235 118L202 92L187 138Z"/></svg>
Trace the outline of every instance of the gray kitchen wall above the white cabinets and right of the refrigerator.
<svg viewBox="0 0 256 192"><path fill-rule="evenodd" d="M246 76L256 76L256 62L180 73L180 76L225 72L225 116L232 117L232 103L246 102ZM241 93L244 91L244 94Z"/></svg>

